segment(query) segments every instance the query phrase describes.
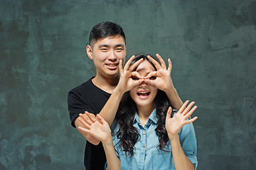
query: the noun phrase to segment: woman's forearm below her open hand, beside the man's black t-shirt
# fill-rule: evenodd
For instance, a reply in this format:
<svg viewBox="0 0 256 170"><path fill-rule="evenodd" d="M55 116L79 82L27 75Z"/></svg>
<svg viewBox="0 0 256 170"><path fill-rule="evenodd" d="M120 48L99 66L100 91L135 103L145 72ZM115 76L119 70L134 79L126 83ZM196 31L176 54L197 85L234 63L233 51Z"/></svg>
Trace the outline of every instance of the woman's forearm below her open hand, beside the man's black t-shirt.
<svg viewBox="0 0 256 170"><path fill-rule="evenodd" d="M108 169L119 170L120 169L120 161L119 161L117 154L114 150L112 138L111 138L111 140L108 140L108 142L102 142L102 145L105 150Z"/></svg>

